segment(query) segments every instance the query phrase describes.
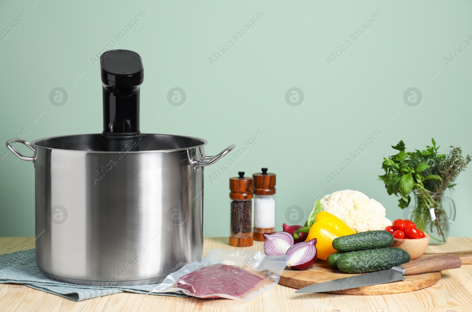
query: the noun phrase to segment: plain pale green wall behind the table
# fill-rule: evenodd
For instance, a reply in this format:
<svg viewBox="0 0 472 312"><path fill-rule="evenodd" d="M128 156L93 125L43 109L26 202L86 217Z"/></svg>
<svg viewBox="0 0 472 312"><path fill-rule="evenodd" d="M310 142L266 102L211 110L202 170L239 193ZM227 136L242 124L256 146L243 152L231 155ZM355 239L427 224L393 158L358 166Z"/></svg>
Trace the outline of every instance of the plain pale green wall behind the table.
<svg viewBox="0 0 472 312"><path fill-rule="evenodd" d="M401 139L421 148L434 137L442 147L472 152L472 47L445 61L455 47L472 43L470 1L34 1L0 2L0 30L28 14L0 42L0 141L22 129L30 142L101 132L100 66L91 58L143 11L116 48L138 52L146 66L146 132L205 138L207 154L214 155L263 131L213 184L217 166L205 170L205 236L228 235L228 178L239 170L277 173L280 229L287 208L309 213L320 190L318 198L359 190L381 202L390 219L402 217L396 198L374 177ZM256 27L236 42L231 35L258 11ZM381 16L373 28L354 42L349 35L376 11ZM234 45L211 64L209 57L229 40ZM329 65L327 58L347 40L352 45ZM55 87L67 91L65 106L51 104ZM167 100L174 87L185 90L183 106ZM300 106L285 100L292 87L304 93ZM410 87L423 95L416 107L403 100ZM330 171L376 129L381 135L374 145L329 184ZM33 165L10 152L0 160L0 175L0 236L33 236ZM451 235L472 236L472 169L458 182Z"/></svg>

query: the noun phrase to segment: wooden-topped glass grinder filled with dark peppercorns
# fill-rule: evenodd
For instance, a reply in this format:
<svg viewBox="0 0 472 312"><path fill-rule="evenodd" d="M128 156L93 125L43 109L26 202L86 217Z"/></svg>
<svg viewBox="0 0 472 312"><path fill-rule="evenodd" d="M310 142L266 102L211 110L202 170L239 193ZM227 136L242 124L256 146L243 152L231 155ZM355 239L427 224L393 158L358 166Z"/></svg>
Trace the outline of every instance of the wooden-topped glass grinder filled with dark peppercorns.
<svg viewBox="0 0 472 312"><path fill-rule="evenodd" d="M239 171L238 175L239 177L229 178L229 245L249 247L253 245L253 178L244 177L244 171Z"/></svg>

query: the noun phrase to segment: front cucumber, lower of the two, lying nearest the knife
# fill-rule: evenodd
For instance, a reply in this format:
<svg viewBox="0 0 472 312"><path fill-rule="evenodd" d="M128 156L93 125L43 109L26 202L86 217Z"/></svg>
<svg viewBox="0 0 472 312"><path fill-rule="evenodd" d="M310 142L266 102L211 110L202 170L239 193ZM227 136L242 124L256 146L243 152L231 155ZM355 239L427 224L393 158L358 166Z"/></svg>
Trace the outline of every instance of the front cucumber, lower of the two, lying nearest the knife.
<svg viewBox="0 0 472 312"><path fill-rule="evenodd" d="M346 273L367 273L388 270L410 261L410 254L396 247L345 253L337 258L337 268Z"/></svg>

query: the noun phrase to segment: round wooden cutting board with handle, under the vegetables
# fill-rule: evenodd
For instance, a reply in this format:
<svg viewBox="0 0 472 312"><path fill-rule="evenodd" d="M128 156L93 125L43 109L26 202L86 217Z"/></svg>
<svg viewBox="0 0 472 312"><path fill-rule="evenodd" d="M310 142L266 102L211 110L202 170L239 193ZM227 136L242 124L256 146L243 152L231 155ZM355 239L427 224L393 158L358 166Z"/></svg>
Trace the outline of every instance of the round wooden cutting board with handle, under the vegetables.
<svg viewBox="0 0 472 312"><path fill-rule="evenodd" d="M439 253L425 253L421 257L438 255ZM472 264L472 251L454 253L461 258L462 264ZM326 282L337 278L346 278L355 274L341 272L331 268L326 261L316 261L315 267L308 270L283 270L280 275L279 284L294 287L297 289L305 286ZM406 293L413 290L419 290L436 284L441 278L441 272L426 274L408 275L405 280L391 282L386 284L357 287L332 291L332 294L342 295L389 295Z"/></svg>

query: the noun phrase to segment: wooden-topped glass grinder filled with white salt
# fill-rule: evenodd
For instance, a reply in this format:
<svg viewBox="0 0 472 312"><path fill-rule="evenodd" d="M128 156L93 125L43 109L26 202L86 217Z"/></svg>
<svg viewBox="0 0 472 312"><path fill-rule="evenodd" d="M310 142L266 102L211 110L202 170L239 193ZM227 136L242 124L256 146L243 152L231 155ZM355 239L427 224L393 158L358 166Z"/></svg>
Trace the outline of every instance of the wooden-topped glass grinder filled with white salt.
<svg viewBox="0 0 472 312"><path fill-rule="evenodd" d="M264 241L264 233L275 232L275 179L276 174L254 173L254 240Z"/></svg>

